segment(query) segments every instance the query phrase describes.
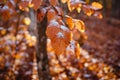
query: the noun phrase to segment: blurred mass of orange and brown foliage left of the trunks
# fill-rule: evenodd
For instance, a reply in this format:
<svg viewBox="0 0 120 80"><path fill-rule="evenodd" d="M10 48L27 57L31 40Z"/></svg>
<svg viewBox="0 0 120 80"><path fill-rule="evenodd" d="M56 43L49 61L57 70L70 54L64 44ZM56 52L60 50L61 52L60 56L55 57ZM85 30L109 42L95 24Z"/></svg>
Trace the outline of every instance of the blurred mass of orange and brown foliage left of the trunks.
<svg viewBox="0 0 120 80"><path fill-rule="evenodd" d="M19 9L21 2L8 0L0 8L1 80L32 79L36 37L28 31L31 20Z"/></svg>

